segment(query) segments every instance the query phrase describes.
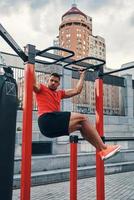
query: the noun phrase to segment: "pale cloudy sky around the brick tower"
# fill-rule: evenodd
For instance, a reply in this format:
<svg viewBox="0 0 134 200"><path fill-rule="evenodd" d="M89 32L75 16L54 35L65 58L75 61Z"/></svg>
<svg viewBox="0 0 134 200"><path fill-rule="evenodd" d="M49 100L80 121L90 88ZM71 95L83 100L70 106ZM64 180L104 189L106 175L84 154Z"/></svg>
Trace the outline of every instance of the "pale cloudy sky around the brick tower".
<svg viewBox="0 0 134 200"><path fill-rule="evenodd" d="M0 0L0 23L21 48L42 50L53 45L61 17L74 2L92 17L93 35L105 39L108 68L134 61L133 0ZM0 51L14 53L1 37Z"/></svg>

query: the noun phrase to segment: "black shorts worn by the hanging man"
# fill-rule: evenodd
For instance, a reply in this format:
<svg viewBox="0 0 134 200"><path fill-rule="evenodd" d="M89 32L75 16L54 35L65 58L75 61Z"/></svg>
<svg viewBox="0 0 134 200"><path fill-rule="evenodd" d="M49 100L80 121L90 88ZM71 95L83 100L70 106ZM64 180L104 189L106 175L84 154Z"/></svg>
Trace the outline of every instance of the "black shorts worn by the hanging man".
<svg viewBox="0 0 134 200"><path fill-rule="evenodd" d="M69 135L68 127L71 112L45 113L38 118L41 133L46 137Z"/></svg>

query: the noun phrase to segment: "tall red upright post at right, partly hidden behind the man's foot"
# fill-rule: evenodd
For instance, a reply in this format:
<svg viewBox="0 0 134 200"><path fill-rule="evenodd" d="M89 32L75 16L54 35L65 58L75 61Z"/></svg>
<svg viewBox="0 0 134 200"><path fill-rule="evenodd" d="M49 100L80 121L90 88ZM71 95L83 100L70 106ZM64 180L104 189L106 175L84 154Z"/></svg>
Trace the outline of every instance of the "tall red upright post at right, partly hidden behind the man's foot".
<svg viewBox="0 0 134 200"><path fill-rule="evenodd" d="M95 81L96 95L96 129L100 136L104 135L103 128L103 80L96 79ZM105 200L104 186L104 161L96 152L96 199Z"/></svg>

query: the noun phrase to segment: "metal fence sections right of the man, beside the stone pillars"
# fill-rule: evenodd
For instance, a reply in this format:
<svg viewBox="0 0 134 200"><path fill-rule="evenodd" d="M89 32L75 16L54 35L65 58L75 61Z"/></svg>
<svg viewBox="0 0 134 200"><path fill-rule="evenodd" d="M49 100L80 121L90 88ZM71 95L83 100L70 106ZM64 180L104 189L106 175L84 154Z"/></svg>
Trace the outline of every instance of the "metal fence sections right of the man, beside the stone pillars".
<svg viewBox="0 0 134 200"><path fill-rule="evenodd" d="M95 72L88 72L85 77L83 91L73 98L73 110L85 114L95 113ZM77 72L73 73L73 86L79 79ZM107 75L104 77L104 114L105 115L126 115L125 105L125 79L123 77Z"/></svg>

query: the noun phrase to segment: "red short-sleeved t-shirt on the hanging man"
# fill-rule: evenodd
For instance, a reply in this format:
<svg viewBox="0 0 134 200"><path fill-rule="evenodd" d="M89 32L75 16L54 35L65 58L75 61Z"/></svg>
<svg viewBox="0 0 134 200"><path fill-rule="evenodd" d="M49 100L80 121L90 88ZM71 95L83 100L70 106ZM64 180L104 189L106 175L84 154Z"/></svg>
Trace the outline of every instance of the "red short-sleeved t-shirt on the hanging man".
<svg viewBox="0 0 134 200"><path fill-rule="evenodd" d="M60 111L60 101L65 96L64 90L53 91L40 84L40 92L35 93L38 106L38 116L54 111Z"/></svg>

